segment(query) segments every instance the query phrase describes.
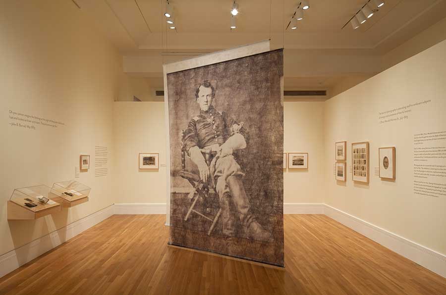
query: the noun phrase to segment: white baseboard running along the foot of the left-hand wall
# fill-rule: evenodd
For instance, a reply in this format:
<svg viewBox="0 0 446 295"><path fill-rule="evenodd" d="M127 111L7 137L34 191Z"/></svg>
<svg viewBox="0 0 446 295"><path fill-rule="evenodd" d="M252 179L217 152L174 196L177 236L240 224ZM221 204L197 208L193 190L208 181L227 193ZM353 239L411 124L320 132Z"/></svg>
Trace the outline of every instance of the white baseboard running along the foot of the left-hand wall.
<svg viewBox="0 0 446 295"><path fill-rule="evenodd" d="M113 205L0 256L0 278L113 215Z"/></svg>

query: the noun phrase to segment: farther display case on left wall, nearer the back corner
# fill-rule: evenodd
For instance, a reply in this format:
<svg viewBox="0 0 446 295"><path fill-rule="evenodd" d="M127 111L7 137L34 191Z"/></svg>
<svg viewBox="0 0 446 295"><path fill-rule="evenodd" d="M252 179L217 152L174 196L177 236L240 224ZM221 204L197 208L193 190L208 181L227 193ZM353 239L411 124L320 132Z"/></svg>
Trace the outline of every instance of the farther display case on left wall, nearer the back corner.
<svg viewBox="0 0 446 295"><path fill-rule="evenodd" d="M72 207L88 201L91 188L75 180L56 182L52 191L57 194L55 199L63 207Z"/></svg>

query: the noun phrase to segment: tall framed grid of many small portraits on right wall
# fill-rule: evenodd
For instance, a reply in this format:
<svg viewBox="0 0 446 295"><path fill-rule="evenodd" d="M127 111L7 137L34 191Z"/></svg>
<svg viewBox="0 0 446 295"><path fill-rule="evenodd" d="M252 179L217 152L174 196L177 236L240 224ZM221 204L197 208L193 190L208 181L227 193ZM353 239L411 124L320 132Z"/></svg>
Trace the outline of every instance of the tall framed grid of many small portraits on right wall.
<svg viewBox="0 0 446 295"><path fill-rule="evenodd" d="M369 183L369 142L351 144L352 179Z"/></svg>

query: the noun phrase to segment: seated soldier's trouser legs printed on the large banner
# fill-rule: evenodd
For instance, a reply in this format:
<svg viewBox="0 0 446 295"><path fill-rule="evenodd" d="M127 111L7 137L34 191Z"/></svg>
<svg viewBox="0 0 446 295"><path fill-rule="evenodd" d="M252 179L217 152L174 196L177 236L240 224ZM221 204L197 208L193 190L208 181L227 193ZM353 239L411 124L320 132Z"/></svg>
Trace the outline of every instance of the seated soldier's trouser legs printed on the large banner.
<svg viewBox="0 0 446 295"><path fill-rule="evenodd" d="M237 213L245 229L255 220L250 213L249 200L242 183L244 173L232 155L218 157L211 167L216 191L220 197L223 234L234 236Z"/></svg>

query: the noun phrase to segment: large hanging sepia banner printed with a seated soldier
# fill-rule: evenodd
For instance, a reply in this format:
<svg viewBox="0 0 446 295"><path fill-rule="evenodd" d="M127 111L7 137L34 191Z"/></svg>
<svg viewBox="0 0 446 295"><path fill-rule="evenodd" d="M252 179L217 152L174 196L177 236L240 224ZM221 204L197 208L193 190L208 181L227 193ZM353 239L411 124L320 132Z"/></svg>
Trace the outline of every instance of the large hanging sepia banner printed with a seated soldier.
<svg viewBox="0 0 446 295"><path fill-rule="evenodd" d="M283 50L166 82L169 244L283 266Z"/></svg>

